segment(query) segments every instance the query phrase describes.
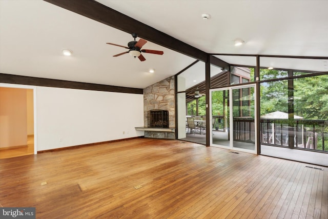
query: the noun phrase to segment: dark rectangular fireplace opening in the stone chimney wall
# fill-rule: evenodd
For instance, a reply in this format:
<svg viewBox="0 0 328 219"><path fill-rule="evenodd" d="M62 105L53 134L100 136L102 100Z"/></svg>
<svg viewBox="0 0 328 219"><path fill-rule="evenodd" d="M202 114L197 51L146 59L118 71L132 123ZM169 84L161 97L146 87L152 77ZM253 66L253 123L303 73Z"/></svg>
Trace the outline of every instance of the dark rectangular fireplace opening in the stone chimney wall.
<svg viewBox="0 0 328 219"><path fill-rule="evenodd" d="M148 111L148 127L169 128L169 111L167 110Z"/></svg>

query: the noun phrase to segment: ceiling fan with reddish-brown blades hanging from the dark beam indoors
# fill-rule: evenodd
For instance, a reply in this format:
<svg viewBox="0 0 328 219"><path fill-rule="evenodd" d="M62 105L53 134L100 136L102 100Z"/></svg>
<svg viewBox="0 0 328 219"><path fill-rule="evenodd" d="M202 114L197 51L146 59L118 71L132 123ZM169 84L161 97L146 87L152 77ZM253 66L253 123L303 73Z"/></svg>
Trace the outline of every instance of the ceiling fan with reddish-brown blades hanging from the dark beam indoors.
<svg viewBox="0 0 328 219"><path fill-rule="evenodd" d="M135 41L135 38L137 38L138 35L136 33L132 33L131 35L134 38L134 41L129 42L128 47L117 45L117 44L112 44L112 43L106 43L106 44L109 44L109 45L114 45L114 46L119 46L119 47L129 49L129 51L113 55L114 57L129 53L133 57L138 57L139 60L141 62L143 62L143 61L146 60L146 58L141 54L141 52L152 53L152 54L157 54L157 55L162 55L164 53L163 51L158 51L158 50L141 49L141 47L144 46L147 43L147 41L145 41L145 39L141 39L141 38L139 39L139 41Z"/></svg>

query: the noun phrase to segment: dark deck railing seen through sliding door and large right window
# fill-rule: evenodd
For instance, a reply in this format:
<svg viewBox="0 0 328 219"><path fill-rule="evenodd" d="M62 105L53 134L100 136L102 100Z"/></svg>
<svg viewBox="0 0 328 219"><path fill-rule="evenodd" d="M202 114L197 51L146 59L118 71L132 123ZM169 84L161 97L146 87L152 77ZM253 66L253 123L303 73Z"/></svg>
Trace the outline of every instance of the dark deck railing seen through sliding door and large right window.
<svg viewBox="0 0 328 219"><path fill-rule="evenodd" d="M234 141L255 142L254 118L235 117ZM270 120L260 121L261 144L328 151L328 121L324 120Z"/></svg>

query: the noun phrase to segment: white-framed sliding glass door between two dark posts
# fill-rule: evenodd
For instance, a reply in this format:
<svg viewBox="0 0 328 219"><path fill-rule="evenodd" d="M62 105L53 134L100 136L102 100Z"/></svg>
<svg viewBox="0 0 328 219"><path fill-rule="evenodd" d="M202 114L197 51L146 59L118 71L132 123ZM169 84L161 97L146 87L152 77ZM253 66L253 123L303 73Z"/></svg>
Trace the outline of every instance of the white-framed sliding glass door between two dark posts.
<svg viewBox="0 0 328 219"><path fill-rule="evenodd" d="M210 145L256 153L255 85L210 91Z"/></svg>

